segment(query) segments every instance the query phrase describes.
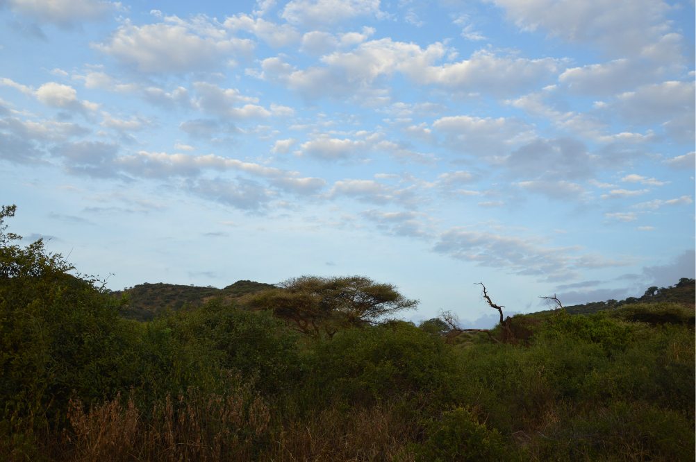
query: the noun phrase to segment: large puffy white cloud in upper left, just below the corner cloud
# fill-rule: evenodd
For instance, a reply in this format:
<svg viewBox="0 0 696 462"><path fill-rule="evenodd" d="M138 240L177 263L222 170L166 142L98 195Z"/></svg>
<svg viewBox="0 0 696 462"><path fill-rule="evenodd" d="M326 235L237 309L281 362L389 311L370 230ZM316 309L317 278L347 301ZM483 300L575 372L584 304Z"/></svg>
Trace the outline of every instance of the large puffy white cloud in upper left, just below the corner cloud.
<svg viewBox="0 0 696 462"><path fill-rule="evenodd" d="M251 56L255 44L248 39L227 38L226 32L200 17L184 22L134 26L128 19L105 44L92 46L140 72L188 72L219 66L226 56Z"/></svg>

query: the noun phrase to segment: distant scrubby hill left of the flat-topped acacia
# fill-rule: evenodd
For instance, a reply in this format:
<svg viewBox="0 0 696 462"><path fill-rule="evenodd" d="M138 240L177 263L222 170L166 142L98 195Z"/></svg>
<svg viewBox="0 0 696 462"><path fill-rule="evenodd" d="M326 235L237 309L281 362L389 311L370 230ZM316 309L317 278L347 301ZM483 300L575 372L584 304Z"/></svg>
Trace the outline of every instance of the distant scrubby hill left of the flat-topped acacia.
<svg viewBox="0 0 696 462"><path fill-rule="evenodd" d="M123 315L130 319L142 321L151 320L157 313L166 308L178 310L184 305L198 306L214 297L223 297L229 303L232 299L244 294L274 287L272 284L254 281L237 281L223 289L212 286L180 286L161 282L155 284L146 282L127 290L118 290L112 293L116 297L120 297L123 292L127 292L129 304Z"/></svg>

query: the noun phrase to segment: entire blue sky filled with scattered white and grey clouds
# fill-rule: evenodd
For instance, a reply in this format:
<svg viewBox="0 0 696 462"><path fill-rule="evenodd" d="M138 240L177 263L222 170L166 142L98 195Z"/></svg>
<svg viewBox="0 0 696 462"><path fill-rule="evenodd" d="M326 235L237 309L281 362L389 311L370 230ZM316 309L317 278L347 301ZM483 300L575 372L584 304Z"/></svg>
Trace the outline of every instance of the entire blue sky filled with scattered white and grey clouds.
<svg viewBox="0 0 696 462"><path fill-rule="evenodd" d="M0 24L9 231L113 290L359 274L490 324L477 282L524 313L695 276L693 1L0 0Z"/></svg>

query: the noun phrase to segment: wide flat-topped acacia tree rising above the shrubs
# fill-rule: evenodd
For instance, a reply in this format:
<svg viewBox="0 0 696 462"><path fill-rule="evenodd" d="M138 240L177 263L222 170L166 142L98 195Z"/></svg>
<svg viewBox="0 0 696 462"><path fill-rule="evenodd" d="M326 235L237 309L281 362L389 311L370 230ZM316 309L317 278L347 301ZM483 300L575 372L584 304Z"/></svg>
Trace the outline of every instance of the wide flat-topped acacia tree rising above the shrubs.
<svg viewBox="0 0 696 462"><path fill-rule="evenodd" d="M247 304L271 309L306 335L332 338L339 329L375 324L395 313L416 308L392 284L368 277L303 276L288 279L278 288L251 296Z"/></svg>

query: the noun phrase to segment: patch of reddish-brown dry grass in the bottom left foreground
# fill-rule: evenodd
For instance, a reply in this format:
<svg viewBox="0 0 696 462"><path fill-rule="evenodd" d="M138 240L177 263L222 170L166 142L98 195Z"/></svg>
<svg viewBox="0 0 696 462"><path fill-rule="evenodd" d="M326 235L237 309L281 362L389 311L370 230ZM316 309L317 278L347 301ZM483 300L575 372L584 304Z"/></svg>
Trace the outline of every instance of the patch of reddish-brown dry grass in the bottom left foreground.
<svg viewBox="0 0 696 462"><path fill-rule="evenodd" d="M268 438L271 414L248 386L222 397L189 396L157 402L151 415L140 415L129 397L120 396L89 411L70 401L71 429L54 436L56 460L97 461L245 461L255 441Z"/></svg>

